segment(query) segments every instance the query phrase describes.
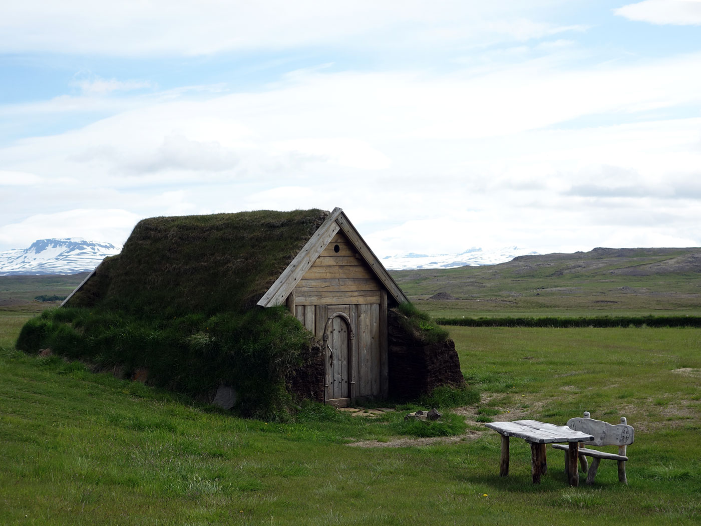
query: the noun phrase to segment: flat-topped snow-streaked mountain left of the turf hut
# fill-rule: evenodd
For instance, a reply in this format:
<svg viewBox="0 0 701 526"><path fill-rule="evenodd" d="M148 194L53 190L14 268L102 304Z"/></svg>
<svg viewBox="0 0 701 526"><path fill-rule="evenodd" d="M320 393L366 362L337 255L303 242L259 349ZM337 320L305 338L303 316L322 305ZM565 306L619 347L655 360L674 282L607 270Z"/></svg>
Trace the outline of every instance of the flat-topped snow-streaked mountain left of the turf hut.
<svg viewBox="0 0 701 526"><path fill-rule="evenodd" d="M0 252L0 276L12 274L76 274L91 271L121 249L83 238L39 239L29 248Z"/></svg>

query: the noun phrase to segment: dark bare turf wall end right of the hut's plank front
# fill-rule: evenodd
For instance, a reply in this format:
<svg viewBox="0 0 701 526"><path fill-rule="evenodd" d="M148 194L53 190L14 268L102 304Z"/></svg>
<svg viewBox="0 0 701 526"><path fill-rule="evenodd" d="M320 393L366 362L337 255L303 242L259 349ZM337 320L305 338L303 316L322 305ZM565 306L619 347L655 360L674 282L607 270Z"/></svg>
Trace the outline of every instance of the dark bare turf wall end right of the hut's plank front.
<svg viewBox="0 0 701 526"><path fill-rule="evenodd" d="M451 339L427 344L400 323L401 313L388 311L388 372L392 398L408 400L428 394L438 386L465 386L460 360Z"/></svg>

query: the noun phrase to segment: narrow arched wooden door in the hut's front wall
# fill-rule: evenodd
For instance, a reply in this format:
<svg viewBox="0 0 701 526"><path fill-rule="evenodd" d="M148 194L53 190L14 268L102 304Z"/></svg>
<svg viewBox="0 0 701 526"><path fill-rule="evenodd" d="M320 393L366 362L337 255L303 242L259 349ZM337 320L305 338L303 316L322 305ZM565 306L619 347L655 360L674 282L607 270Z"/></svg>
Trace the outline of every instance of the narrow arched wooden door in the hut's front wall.
<svg viewBox="0 0 701 526"><path fill-rule="evenodd" d="M326 325L326 398L335 400L350 397L351 330L345 316L330 318Z"/></svg>

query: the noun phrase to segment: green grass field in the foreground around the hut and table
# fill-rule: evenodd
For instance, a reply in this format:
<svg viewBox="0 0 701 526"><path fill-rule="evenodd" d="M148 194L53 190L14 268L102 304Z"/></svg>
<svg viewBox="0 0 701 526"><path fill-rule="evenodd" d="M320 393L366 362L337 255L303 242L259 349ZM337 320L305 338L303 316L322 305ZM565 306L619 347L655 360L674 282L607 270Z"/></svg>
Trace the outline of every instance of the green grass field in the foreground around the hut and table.
<svg viewBox="0 0 701 526"><path fill-rule="evenodd" d="M701 516L701 330L451 328L482 402L448 443L306 405L297 422L237 419L79 363L9 349L27 313L0 312L0 517L27 525L637 525ZM478 421L564 424L590 410L636 428L629 485L604 461L593 487L566 486L549 451ZM457 429L457 428L456 428ZM440 440L440 439L439 439Z"/></svg>

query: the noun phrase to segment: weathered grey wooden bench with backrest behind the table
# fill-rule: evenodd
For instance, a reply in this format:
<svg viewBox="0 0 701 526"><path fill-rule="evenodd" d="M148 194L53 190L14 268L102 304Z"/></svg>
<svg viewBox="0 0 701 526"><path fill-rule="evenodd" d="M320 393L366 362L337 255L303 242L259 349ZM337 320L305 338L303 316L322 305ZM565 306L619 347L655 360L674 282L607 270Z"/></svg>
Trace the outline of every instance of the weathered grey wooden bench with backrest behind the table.
<svg viewBox="0 0 701 526"><path fill-rule="evenodd" d="M594 440L590 442L582 442L579 444L578 456L582 466L582 470L587 473L587 484L594 483L594 477L597 476L599 462L604 460L615 460L618 462L618 481L627 484L628 479L625 476L625 463L628 461L626 456L627 446L633 443L634 432L632 426L627 425L625 417L620 417L620 424L609 424L603 420L594 420L590 418L589 411L584 412L584 418L571 418L567 421L567 426L575 431L581 431L594 436ZM617 445L618 454L607 453L599 450L592 450L585 445ZM556 450L569 451L569 445L553 444L552 447ZM587 466L587 457L592 457L592 465ZM565 473L569 477L569 463L565 456ZM577 468L575 464L574 468Z"/></svg>

